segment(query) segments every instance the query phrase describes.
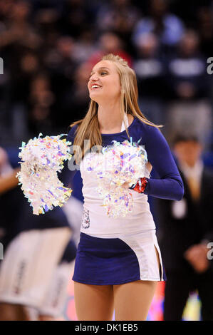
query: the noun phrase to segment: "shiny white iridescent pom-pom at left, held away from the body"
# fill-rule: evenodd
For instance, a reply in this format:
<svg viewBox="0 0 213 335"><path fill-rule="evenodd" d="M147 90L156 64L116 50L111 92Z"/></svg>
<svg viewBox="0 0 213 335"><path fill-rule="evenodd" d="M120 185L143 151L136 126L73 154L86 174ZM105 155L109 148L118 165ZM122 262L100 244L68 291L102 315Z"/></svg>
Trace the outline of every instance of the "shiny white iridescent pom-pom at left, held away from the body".
<svg viewBox="0 0 213 335"><path fill-rule="evenodd" d="M72 190L64 187L58 180L57 172L63 169L63 161L69 160L68 145L71 142L61 140L61 136L46 136L22 143L19 158L21 170L17 174L24 195L31 202L33 214L44 214L53 210L53 206L63 206L71 196Z"/></svg>

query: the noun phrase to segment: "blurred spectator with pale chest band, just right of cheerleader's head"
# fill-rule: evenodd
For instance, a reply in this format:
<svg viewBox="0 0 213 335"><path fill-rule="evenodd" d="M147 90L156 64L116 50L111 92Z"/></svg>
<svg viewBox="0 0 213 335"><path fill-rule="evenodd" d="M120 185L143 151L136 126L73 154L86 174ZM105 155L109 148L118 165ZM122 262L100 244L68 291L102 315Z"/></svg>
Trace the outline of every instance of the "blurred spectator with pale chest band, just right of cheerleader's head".
<svg viewBox="0 0 213 335"><path fill-rule="evenodd" d="M137 57L133 68L137 75L139 105L146 117L157 124L165 122L165 61L154 33L143 33L137 39Z"/></svg>

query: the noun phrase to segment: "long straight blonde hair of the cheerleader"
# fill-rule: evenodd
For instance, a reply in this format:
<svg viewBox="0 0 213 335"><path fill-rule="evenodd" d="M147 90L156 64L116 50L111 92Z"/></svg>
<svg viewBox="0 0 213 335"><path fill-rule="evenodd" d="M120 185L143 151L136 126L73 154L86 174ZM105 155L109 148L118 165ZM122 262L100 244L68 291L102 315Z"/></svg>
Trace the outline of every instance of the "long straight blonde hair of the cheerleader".
<svg viewBox="0 0 213 335"><path fill-rule="evenodd" d="M155 123L152 123L145 117L145 115L142 114L137 103L138 91L135 71L128 66L127 61L125 61L118 55L113 55L113 53L109 53L108 55L103 56L101 58L101 61L112 61L115 64L118 74L120 76L121 115L124 116L124 113L131 114L141 120L143 123L146 123L147 125L152 125L156 128L163 127L163 125L155 125ZM102 138L98 123L98 103L96 103L94 100L90 100L89 109L85 117L72 123L71 127L73 127L74 125L78 125L78 128L76 130L76 138L73 144L78 146L76 148L80 148L82 151L80 156L78 156L79 153L75 153L75 159L79 163L79 158L83 159L83 156L88 150L90 150L90 148L93 148L93 146L95 145L102 145ZM130 138L126 123L125 130L128 134L128 138ZM89 140L88 147L85 146L84 140Z"/></svg>

